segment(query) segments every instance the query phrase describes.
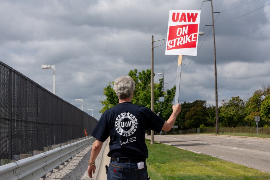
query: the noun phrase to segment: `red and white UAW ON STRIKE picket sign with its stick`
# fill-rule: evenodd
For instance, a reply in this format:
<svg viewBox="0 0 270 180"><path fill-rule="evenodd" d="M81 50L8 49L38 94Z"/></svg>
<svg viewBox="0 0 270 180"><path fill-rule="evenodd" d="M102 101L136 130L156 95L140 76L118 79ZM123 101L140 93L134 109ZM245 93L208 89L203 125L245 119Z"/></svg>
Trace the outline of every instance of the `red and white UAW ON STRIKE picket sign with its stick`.
<svg viewBox="0 0 270 180"><path fill-rule="evenodd" d="M179 102L182 55L196 56L199 36L201 11L195 10L170 10L166 55L179 55L175 102Z"/></svg>

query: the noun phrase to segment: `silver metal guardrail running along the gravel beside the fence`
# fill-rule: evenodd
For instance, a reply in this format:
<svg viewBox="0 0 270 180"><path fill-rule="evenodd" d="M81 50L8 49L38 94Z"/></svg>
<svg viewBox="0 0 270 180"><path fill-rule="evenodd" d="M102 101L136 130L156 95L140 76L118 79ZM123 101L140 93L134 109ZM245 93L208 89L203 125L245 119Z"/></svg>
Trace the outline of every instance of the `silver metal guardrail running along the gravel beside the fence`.
<svg viewBox="0 0 270 180"><path fill-rule="evenodd" d="M37 180L71 159L95 141L90 137L50 151L0 166L0 180Z"/></svg>

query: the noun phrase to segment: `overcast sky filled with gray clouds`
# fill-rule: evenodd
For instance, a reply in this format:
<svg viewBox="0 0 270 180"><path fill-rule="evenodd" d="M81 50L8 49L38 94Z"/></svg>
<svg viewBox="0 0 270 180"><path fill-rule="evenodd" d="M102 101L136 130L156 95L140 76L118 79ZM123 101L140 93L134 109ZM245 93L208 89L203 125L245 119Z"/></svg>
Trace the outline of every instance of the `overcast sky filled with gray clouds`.
<svg viewBox="0 0 270 180"><path fill-rule="evenodd" d="M269 3L213 0L214 12L221 12L214 14L219 105L270 83ZM151 36L167 37L169 10L201 10L205 32L197 56L183 56L179 101L215 105L213 33L205 26L212 24L211 3L203 0L2 0L0 61L49 91L52 69L41 65L55 64L56 95L78 108L75 99L83 99L83 110L94 109L99 119L109 82L151 69ZM154 48L154 72L164 70L166 90L176 85L178 57L165 55L165 47Z"/></svg>

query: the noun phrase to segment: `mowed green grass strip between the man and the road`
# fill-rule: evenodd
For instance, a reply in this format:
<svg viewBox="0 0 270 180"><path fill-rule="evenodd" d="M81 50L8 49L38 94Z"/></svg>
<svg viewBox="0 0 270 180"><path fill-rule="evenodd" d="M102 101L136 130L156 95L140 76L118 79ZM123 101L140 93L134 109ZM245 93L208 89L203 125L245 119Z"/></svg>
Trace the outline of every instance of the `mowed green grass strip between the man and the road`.
<svg viewBox="0 0 270 180"><path fill-rule="evenodd" d="M151 180L180 179L270 179L270 174L229 163L208 155L196 154L177 147L145 139L149 158L147 170Z"/></svg>

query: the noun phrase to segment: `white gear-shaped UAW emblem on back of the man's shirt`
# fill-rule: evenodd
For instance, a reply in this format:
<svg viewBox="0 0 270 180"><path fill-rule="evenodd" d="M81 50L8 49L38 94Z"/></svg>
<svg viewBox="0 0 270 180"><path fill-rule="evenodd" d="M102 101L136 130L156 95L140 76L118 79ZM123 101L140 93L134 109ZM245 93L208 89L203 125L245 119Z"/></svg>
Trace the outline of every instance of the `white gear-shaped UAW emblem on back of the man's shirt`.
<svg viewBox="0 0 270 180"><path fill-rule="evenodd" d="M125 137L132 135L137 129L137 119L133 114L121 113L115 121L116 131Z"/></svg>

